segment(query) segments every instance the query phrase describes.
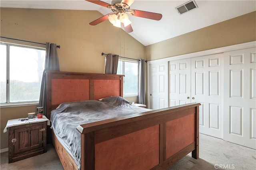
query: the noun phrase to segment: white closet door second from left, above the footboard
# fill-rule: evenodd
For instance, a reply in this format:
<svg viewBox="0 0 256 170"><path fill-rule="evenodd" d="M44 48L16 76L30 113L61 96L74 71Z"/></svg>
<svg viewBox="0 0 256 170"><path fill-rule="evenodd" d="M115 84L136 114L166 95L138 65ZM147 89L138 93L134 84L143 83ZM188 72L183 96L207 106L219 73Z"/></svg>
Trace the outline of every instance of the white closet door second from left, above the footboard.
<svg viewBox="0 0 256 170"><path fill-rule="evenodd" d="M190 72L191 59L183 59L169 62L169 106L177 106L190 103Z"/></svg>

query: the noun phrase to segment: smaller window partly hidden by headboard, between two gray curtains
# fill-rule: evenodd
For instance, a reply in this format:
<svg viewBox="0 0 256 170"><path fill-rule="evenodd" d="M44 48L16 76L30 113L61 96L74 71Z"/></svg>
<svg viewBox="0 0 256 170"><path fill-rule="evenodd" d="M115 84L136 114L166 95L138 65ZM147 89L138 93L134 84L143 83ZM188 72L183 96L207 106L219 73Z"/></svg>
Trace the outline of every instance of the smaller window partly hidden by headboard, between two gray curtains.
<svg viewBox="0 0 256 170"><path fill-rule="evenodd" d="M117 74L124 74L124 96L138 96L138 62L119 60Z"/></svg>

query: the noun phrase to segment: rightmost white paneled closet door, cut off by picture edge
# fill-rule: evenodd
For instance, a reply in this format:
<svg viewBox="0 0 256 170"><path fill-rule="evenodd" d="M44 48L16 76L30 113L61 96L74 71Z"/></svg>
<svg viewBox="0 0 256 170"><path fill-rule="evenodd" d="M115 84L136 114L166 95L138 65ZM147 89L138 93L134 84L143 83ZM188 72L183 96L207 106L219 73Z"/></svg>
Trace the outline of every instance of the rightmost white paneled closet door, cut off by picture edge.
<svg viewBox="0 0 256 170"><path fill-rule="evenodd" d="M256 48L224 53L224 137L256 149Z"/></svg>

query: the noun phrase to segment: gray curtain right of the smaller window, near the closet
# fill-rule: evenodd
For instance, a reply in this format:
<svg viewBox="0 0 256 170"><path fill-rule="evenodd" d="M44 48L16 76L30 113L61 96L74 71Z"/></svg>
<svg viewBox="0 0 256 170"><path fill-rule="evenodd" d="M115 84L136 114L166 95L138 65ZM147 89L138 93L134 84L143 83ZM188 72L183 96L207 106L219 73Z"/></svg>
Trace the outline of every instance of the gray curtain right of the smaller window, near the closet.
<svg viewBox="0 0 256 170"><path fill-rule="evenodd" d="M146 104L145 61L140 59L138 67L138 104Z"/></svg>

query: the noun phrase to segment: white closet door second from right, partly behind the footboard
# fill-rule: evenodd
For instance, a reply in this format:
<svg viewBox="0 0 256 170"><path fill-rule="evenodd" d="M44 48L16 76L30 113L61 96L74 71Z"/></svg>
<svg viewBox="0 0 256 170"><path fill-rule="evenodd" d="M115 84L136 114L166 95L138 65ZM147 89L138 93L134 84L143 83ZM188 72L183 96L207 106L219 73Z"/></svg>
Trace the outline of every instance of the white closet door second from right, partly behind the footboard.
<svg viewBox="0 0 256 170"><path fill-rule="evenodd" d="M199 107L199 132L223 139L223 53L191 58L191 102Z"/></svg>

